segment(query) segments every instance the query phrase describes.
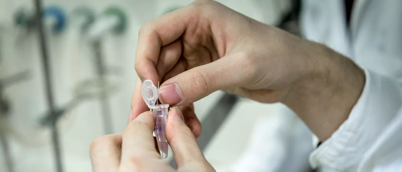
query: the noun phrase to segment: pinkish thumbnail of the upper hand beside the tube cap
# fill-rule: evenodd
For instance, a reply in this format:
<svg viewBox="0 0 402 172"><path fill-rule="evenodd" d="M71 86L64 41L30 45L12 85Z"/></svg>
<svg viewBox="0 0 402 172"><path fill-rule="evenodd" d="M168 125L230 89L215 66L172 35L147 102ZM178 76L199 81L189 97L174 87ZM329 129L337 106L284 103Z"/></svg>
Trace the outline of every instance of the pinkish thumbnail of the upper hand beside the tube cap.
<svg viewBox="0 0 402 172"><path fill-rule="evenodd" d="M159 100L164 104L176 105L180 103L182 99L180 88L176 83L164 85L159 89Z"/></svg>

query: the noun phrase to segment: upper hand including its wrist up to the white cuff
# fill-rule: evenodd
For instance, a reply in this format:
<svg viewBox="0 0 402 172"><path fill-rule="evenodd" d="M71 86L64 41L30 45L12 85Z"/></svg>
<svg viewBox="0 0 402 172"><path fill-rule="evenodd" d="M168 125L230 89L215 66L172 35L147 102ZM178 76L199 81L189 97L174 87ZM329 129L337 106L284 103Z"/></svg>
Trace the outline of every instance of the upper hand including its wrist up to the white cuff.
<svg viewBox="0 0 402 172"><path fill-rule="evenodd" d="M365 80L359 67L328 47L211 0L142 26L135 69L139 80L162 81L160 101L170 105L188 105L219 89L282 102L322 141L347 118ZM139 81L129 119L148 110L140 88Z"/></svg>

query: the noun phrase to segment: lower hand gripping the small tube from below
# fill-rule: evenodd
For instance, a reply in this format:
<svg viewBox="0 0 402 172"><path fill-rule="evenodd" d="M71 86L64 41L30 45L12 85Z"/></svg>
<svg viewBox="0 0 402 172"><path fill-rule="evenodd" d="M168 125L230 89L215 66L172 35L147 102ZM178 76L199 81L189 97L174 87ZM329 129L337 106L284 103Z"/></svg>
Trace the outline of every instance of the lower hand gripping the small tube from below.
<svg viewBox="0 0 402 172"><path fill-rule="evenodd" d="M173 172L168 161L160 158L152 132L155 119L147 111L131 121L123 134L96 138L90 146L93 172ZM215 171L205 160L197 140L183 122L180 109L169 111L166 139L172 147L177 171Z"/></svg>

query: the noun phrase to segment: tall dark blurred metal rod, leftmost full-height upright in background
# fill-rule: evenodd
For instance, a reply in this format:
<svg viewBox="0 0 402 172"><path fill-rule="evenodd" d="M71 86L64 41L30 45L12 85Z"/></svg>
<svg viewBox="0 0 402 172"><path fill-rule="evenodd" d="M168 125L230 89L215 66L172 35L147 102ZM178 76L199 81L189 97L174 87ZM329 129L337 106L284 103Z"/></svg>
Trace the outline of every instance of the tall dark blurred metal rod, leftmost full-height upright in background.
<svg viewBox="0 0 402 172"><path fill-rule="evenodd" d="M39 41L40 41L40 49L42 53L42 65L44 69L45 75L45 88L46 88L46 97L47 97L47 106L49 108L49 113L51 115L56 115L56 107L54 104L53 90L51 86L51 76L50 76L50 61L47 53L47 42L45 37L45 29L43 27L43 18L42 18L42 4L41 0L34 0L35 4L35 17L36 23L39 31ZM62 155L60 151L60 143L59 143L59 133L57 131L57 118L54 117L51 121L51 133L52 133L52 142L53 142L53 151L55 154L56 160L56 168L57 172L63 172L62 166Z"/></svg>

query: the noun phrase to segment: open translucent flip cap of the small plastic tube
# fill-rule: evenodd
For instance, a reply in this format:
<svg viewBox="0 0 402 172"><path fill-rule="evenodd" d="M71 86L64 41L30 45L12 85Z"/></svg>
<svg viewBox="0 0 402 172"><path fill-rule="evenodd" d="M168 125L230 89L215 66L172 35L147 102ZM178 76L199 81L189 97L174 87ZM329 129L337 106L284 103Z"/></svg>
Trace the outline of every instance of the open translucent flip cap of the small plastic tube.
<svg viewBox="0 0 402 172"><path fill-rule="evenodd" d="M142 82L142 98L150 109L153 109L156 101L158 101L158 89L151 80L147 79Z"/></svg>

